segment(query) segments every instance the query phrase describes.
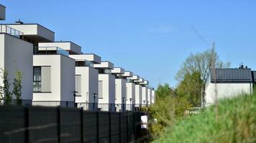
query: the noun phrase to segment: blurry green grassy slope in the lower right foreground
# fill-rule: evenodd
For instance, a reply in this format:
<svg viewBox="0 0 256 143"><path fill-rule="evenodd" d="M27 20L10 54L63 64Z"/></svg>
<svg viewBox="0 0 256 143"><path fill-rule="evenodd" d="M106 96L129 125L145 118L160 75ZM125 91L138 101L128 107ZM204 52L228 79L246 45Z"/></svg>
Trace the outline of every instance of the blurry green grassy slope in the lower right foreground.
<svg viewBox="0 0 256 143"><path fill-rule="evenodd" d="M225 99L175 122L155 142L256 142L256 94Z"/></svg>

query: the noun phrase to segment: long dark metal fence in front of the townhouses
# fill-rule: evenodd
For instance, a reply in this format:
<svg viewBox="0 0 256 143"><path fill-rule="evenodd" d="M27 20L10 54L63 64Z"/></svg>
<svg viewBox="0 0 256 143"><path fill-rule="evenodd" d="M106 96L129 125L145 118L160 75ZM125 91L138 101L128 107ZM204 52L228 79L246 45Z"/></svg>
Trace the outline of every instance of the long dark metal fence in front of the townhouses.
<svg viewBox="0 0 256 143"><path fill-rule="evenodd" d="M1 143L136 142L143 112L0 106Z"/></svg>

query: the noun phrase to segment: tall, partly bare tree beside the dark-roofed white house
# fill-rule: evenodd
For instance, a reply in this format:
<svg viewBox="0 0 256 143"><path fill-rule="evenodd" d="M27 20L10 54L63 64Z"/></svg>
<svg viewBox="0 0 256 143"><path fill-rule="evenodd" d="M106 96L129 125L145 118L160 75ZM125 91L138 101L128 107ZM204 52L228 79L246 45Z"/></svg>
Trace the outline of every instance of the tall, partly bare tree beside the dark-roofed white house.
<svg viewBox="0 0 256 143"><path fill-rule="evenodd" d="M224 62L219 59L215 44L211 49L203 53L191 54L175 76L175 79L180 82L178 94L185 97L192 96L188 99L193 105L197 105L199 100L201 100L201 104L204 104L204 87L210 70L228 68L229 66L230 62ZM194 78L198 77L198 75L200 75L201 80ZM191 84L189 84L190 82ZM186 88L186 86L189 88Z"/></svg>

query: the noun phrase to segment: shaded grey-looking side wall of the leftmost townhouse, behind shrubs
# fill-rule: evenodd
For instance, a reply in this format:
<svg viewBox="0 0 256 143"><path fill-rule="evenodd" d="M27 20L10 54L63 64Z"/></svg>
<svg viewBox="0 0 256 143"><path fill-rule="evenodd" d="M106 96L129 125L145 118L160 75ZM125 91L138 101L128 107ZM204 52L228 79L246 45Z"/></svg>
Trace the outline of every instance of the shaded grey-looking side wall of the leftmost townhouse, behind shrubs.
<svg viewBox="0 0 256 143"><path fill-rule="evenodd" d="M10 89L17 70L22 71L22 103L32 102L33 45L9 34L0 34L0 69L9 72ZM1 71L2 74L2 71ZM0 78L2 86L3 79ZM11 91L12 92L12 91ZM13 96L13 99L16 99Z"/></svg>

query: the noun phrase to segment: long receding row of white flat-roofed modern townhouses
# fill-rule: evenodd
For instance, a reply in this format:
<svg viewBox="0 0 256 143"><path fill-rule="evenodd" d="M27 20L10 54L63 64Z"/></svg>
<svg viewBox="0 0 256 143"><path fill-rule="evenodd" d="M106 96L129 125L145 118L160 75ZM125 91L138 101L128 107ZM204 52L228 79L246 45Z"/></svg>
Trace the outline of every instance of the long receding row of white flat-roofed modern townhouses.
<svg viewBox="0 0 256 143"><path fill-rule="evenodd" d="M155 102L147 80L83 54L72 41L55 41L55 32L40 24L0 25L0 69L9 71L9 81L22 71L22 104L124 111Z"/></svg>

